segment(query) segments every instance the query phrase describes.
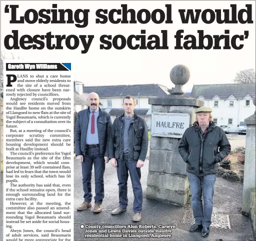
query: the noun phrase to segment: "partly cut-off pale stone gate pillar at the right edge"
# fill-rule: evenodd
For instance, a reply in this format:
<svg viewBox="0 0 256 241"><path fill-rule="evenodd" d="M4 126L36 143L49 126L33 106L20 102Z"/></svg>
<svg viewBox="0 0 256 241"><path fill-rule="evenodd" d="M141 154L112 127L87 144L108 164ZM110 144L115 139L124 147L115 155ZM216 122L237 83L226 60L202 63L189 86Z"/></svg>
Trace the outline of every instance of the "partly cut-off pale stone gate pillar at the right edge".
<svg viewBox="0 0 256 241"><path fill-rule="evenodd" d="M253 98L255 105L255 96ZM243 175L243 193L242 193L242 214L249 215L250 209L255 213L255 206L251 206L250 191L255 189L255 132L256 120L255 112L251 116L244 119L246 124L246 140L245 140L245 158L244 158L244 175ZM254 190L255 191L255 190ZM255 192L254 192L255 193ZM254 196L255 201L255 196ZM254 203L255 205L255 203ZM255 218L255 217L254 217ZM255 219L254 219L255 220ZM255 225L255 221L254 221Z"/></svg>

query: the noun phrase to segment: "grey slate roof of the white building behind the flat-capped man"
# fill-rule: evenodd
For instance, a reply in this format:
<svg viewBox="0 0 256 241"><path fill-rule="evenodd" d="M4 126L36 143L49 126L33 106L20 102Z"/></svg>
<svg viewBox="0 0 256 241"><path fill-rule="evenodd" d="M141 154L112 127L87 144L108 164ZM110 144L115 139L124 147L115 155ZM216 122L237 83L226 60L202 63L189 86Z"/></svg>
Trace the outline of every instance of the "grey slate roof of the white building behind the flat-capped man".
<svg viewBox="0 0 256 241"><path fill-rule="evenodd" d="M224 84L198 84L194 85L191 97L198 98L202 95L205 99L212 99L218 95L220 99L227 99L231 94L242 99L246 94L255 96L255 83L224 83Z"/></svg>

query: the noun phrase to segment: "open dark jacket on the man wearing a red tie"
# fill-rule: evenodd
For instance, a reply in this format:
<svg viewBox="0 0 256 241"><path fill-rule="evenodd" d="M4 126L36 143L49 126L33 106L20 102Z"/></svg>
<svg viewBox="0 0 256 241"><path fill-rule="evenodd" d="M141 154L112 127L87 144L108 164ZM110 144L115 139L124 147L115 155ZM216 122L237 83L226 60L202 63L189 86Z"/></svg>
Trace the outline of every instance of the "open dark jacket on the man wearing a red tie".
<svg viewBox="0 0 256 241"><path fill-rule="evenodd" d="M108 156L108 144L112 121L110 114L100 108L97 117L99 156ZM89 107L78 112L74 129L75 155L84 155L89 123Z"/></svg>

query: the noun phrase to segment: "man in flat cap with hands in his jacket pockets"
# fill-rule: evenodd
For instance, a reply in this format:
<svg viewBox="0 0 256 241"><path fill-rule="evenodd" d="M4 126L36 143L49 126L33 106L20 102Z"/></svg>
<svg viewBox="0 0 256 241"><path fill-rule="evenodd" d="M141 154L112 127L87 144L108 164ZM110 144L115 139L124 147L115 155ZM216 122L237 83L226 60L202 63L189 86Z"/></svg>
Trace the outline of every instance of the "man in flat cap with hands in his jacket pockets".
<svg viewBox="0 0 256 241"><path fill-rule="evenodd" d="M187 163L186 171L192 195L192 209L195 223L189 231L201 231L203 237L209 234L213 207L213 192L217 162L230 153L230 144L224 131L212 121L212 109L199 107L196 121L182 135L178 152ZM201 195L203 195L203 205Z"/></svg>

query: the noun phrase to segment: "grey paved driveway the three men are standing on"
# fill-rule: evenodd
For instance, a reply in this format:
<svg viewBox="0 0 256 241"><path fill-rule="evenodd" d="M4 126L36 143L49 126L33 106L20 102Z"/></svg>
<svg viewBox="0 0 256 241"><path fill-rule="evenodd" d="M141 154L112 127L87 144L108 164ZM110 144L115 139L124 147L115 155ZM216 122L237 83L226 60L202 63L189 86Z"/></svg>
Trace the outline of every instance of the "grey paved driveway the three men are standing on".
<svg viewBox="0 0 256 241"><path fill-rule="evenodd" d="M110 211L118 205L118 186L116 169L106 165L104 182L105 198L103 200L103 210L101 213L94 214L91 209L85 211L76 211L75 208L82 202L82 183L80 163L74 161L74 240L252 240L251 223L247 217L241 215L242 205L242 184L230 182L228 180L217 178L214 193L213 212L229 214L231 229L211 227L211 233L208 238L202 238L199 232L191 233L188 231L189 224L183 223L186 209L191 206L178 207L168 203L147 199L146 178L148 173L148 160L145 161L144 167L141 168L141 183L143 189L143 212L139 224L171 224L176 225L172 229L171 238L84 238L84 228L80 225L85 224L138 224L131 220L133 215L132 201L133 193L130 179L128 179L128 207L127 211L119 215L111 215ZM94 176L92 176L93 180ZM94 189L94 181L92 181ZM94 191L93 191L94 196Z"/></svg>

